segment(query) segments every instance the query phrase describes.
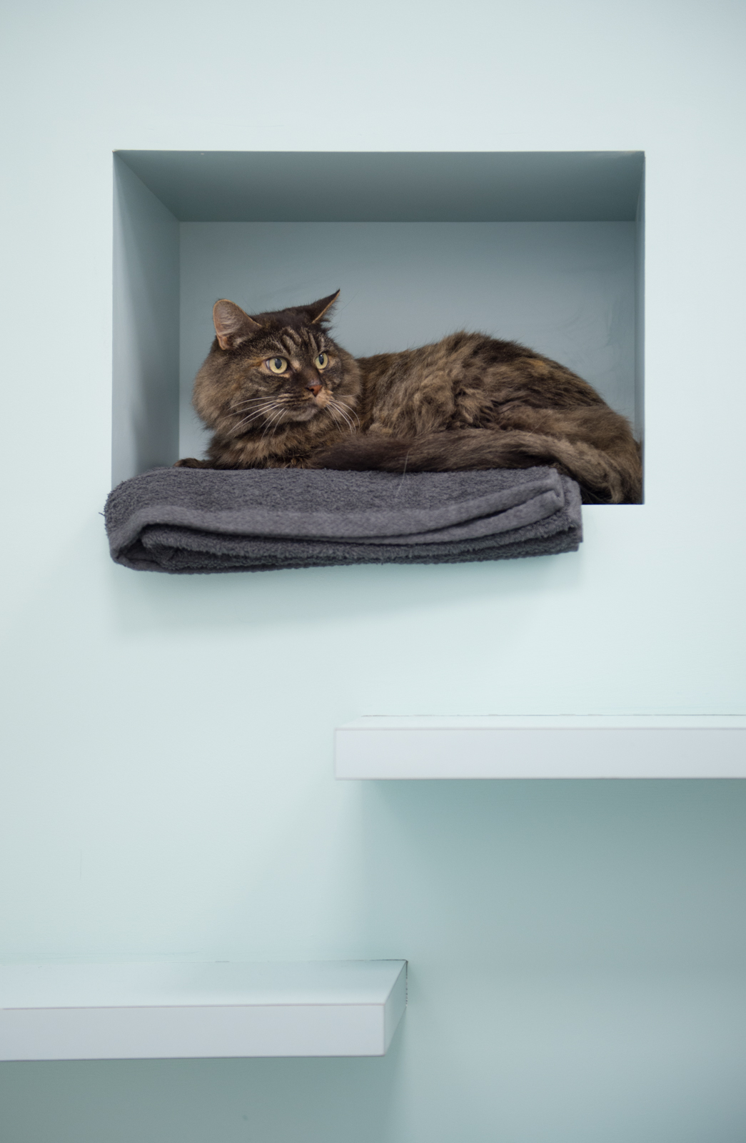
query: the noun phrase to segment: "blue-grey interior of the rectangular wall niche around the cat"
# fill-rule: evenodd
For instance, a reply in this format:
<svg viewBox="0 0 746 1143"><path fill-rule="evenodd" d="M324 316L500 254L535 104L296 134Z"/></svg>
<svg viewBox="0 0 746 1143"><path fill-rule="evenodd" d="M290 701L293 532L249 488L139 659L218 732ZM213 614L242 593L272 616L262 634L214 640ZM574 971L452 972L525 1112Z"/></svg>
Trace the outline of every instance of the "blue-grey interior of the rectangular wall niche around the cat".
<svg viewBox="0 0 746 1143"><path fill-rule="evenodd" d="M207 434L212 303L342 289L358 355L458 329L569 366L643 430L642 152L114 154L114 483Z"/></svg>

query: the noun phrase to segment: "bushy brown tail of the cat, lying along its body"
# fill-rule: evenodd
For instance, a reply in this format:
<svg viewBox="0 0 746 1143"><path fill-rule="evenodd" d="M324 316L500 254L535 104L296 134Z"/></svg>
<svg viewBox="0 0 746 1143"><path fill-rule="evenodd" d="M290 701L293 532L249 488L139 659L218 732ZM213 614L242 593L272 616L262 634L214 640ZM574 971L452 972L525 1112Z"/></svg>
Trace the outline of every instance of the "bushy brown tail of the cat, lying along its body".
<svg viewBox="0 0 746 1143"><path fill-rule="evenodd" d="M313 456L314 469L455 472L551 465L580 485L591 504L639 504L640 453L634 441L615 454L585 441L520 429L458 429L425 437L356 434Z"/></svg>

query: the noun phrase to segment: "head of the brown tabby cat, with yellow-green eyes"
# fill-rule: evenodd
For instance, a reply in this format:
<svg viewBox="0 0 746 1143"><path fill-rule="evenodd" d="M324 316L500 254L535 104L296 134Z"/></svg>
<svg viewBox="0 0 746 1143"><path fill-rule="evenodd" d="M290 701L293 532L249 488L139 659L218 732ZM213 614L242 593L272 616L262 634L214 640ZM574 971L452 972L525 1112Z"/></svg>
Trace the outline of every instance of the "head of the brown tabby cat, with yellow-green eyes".
<svg viewBox="0 0 746 1143"><path fill-rule="evenodd" d="M231 435L334 419L354 366L324 321L338 296L252 317L234 302L216 302L216 337L194 385L202 419Z"/></svg>

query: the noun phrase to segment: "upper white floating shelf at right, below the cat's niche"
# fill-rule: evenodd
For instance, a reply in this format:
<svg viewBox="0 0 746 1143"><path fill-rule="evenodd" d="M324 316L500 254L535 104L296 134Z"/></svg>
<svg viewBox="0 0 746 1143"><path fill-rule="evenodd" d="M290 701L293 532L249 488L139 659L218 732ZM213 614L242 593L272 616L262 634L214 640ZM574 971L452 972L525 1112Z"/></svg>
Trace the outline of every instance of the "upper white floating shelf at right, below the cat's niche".
<svg viewBox="0 0 746 1143"><path fill-rule="evenodd" d="M743 778L743 716L361 718L338 778Z"/></svg>

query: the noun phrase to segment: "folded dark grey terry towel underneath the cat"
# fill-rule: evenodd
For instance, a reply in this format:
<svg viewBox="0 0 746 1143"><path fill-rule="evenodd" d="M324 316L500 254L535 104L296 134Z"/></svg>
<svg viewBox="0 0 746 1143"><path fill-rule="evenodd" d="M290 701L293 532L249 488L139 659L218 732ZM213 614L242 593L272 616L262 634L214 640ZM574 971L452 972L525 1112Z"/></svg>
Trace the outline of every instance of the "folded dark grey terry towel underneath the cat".
<svg viewBox="0 0 746 1143"><path fill-rule="evenodd" d="M576 551L578 486L554 469L155 469L105 509L112 559L150 572L458 563Z"/></svg>

